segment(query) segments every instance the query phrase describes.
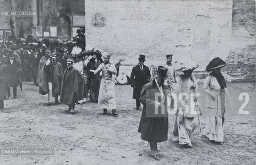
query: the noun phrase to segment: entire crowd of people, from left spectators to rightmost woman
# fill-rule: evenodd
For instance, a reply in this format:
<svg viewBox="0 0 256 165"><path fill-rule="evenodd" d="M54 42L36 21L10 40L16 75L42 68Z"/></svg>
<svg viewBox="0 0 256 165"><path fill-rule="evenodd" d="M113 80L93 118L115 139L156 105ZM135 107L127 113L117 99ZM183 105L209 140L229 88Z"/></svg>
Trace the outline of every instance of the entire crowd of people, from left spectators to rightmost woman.
<svg viewBox="0 0 256 165"><path fill-rule="evenodd" d="M98 103L102 108L103 115L106 115L109 109L116 117L118 113L114 75L118 74L120 61L113 64L110 62L109 53L101 53L96 48L86 47L84 34L79 30L77 32L78 36L70 42L24 41L20 45L13 42L9 42L7 46L2 45L0 108L4 108L4 100L10 97L10 88L13 89L13 98L18 98L17 87L20 86L22 89L23 80L33 79L34 85L39 87L39 94L48 94L49 106L55 100L55 104L61 102L68 105L70 113L75 114L75 105L85 103L89 96L91 102ZM175 109L173 135L178 137L179 144L190 148L196 117L201 113L198 106L197 79L193 75L193 70L199 65L187 59L179 63L179 68L175 68L172 58L173 55L166 55L166 62L160 65L156 72L150 73L144 64L145 55L139 55L138 64L132 68L130 75L135 108L138 110L141 104L143 105L138 131L141 133L141 139L149 142L150 153L156 160L160 159L157 143L168 139L168 116L156 116L155 112L166 112L168 108ZM207 76L203 86L207 94L206 112L209 118L205 135L217 144L223 142L224 94L227 93L227 85L220 69L225 65L220 58L210 61L206 71L212 73ZM183 74L177 76L176 70L182 71ZM152 74L156 76L153 80ZM159 94L161 101L156 100L156 93ZM173 94L168 99L170 93ZM180 102L175 105L175 96L180 93L193 95L197 113L187 108L191 107L191 103L186 96L182 96L182 99L188 106Z"/></svg>

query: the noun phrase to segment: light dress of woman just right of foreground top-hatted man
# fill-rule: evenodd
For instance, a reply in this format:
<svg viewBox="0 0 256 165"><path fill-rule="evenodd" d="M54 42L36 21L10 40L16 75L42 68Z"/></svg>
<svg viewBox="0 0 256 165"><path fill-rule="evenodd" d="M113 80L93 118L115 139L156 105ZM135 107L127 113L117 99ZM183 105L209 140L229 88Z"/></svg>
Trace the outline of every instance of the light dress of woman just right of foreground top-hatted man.
<svg viewBox="0 0 256 165"><path fill-rule="evenodd" d="M194 83L190 79L190 77L193 79ZM186 144L186 145L192 146L191 134L193 133L196 127L195 116L197 116L197 113L195 111L195 106L193 107L194 112L191 110L190 94L192 94L192 99L194 99L194 92L197 92L197 80L193 75L191 75L190 77L187 77L185 75L179 75L177 77L178 93L179 94L187 93L189 98L183 99L185 103L188 105L187 111L184 112L184 114L181 114L181 113L176 114L174 126L173 126L173 135L178 136L179 144L183 144L183 145ZM195 89L192 88L192 85L195 85ZM179 111L182 111L182 107L184 106L178 102L177 107Z"/></svg>

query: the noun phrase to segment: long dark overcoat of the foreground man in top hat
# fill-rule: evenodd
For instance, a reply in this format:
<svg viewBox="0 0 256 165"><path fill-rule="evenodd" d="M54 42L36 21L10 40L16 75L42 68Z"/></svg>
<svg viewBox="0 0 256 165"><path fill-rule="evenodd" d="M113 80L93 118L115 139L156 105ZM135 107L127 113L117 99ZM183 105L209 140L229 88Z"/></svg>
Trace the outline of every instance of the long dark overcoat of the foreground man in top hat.
<svg viewBox="0 0 256 165"><path fill-rule="evenodd" d="M168 138L168 113L167 113L167 92L163 89L163 105L159 107L158 114L155 113L155 93L160 93L155 79L144 85L141 91L140 102L143 104L139 133L145 141L162 142ZM163 112L162 112L162 109Z"/></svg>

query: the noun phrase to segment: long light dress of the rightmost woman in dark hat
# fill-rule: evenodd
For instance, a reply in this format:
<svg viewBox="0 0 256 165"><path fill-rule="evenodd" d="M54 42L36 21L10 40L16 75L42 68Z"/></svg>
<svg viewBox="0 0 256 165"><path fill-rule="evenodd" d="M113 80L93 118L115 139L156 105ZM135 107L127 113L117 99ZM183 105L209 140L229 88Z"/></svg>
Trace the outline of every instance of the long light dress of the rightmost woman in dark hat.
<svg viewBox="0 0 256 165"><path fill-rule="evenodd" d="M220 85L217 78L208 75L203 89L207 94L205 98L207 118L204 134L209 140L223 142L224 130L221 115ZM214 98L212 94L217 94L218 97Z"/></svg>

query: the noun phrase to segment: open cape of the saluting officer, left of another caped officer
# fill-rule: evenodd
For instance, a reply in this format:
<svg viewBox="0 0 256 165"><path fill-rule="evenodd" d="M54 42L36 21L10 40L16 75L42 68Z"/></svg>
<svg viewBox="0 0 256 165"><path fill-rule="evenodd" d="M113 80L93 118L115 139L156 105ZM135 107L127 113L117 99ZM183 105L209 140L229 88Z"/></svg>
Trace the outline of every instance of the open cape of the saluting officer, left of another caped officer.
<svg viewBox="0 0 256 165"><path fill-rule="evenodd" d="M44 64L46 65L46 64ZM37 75L37 83L41 87L41 94L48 93L48 83L46 78L46 72L44 71L44 65L41 70L38 72ZM57 62L54 65L53 71L53 83L52 83L52 96L57 97L61 93L61 85L62 85L62 78L63 78L63 68L62 64Z"/></svg>

